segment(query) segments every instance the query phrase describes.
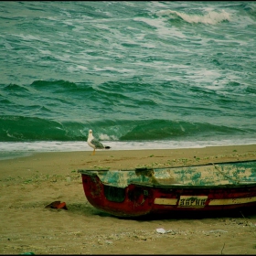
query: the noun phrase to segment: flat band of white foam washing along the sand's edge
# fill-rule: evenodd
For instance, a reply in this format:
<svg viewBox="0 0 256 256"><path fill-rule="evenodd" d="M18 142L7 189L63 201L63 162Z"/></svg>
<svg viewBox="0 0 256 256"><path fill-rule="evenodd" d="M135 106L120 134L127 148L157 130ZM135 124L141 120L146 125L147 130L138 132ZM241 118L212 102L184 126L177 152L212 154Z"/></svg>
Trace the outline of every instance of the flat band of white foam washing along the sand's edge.
<svg viewBox="0 0 256 256"><path fill-rule="evenodd" d="M101 141L102 144L111 146L110 150L142 150L142 149L180 149L180 148L202 148L206 146L221 145L242 145L256 144L256 139L236 139L222 141L143 141L143 142L116 142ZM91 151L87 142L1 142L0 160L3 155L11 153L32 154L39 152L73 152L73 151Z"/></svg>

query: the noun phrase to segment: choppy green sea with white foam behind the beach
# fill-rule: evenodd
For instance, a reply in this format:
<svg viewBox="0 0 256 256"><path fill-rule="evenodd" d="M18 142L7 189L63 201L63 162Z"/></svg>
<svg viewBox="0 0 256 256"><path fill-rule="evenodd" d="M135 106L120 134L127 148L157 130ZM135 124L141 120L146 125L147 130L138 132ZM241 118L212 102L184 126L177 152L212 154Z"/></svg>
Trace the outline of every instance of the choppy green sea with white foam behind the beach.
<svg viewBox="0 0 256 256"><path fill-rule="evenodd" d="M0 159L256 144L256 2L1 1Z"/></svg>

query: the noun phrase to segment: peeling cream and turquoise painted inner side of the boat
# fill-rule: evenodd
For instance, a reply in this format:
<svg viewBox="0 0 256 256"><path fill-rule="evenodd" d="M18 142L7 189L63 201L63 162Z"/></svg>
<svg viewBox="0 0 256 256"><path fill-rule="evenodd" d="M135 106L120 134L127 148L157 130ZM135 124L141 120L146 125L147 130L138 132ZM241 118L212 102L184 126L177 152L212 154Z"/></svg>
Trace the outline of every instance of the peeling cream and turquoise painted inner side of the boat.
<svg viewBox="0 0 256 256"><path fill-rule="evenodd" d="M172 186L220 186L256 182L256 162L197 166L91 171L101 182L113 187L127 187L133 182ZM252 168L254 167L254 168ZM80 170L82 174L83 171Z"/></svg>

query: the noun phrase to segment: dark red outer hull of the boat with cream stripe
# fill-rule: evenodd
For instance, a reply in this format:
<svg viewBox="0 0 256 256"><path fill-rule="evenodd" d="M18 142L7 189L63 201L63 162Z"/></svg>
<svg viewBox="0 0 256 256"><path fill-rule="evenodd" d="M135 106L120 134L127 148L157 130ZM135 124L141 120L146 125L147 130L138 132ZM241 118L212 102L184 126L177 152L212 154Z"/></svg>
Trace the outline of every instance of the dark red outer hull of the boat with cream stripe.
<svg viewBox="0 0 256 256"><path fill-rule="evenodd" d="M255 184L237 187L175 187L134 182L127 187L112 187L103 184L97 175L81 176L85 196L91 205L119 217L256 206Z"/></svg>

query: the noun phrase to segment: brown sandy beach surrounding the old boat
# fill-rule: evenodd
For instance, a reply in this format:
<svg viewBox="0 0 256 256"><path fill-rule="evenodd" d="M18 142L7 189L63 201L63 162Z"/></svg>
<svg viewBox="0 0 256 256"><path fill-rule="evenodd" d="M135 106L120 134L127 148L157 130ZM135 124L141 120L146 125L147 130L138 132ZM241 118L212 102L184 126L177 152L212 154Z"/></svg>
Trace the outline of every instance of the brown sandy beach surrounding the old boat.
<svg viewBox="0 0 256 256"><path fill-rule="evenodd" d="M1 254L256 254L256 209L121 219L90 205L77 172L252 160L256 144L91 153L0 161ZM45 208L56 200L68 209Z"/></svg>

